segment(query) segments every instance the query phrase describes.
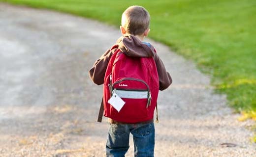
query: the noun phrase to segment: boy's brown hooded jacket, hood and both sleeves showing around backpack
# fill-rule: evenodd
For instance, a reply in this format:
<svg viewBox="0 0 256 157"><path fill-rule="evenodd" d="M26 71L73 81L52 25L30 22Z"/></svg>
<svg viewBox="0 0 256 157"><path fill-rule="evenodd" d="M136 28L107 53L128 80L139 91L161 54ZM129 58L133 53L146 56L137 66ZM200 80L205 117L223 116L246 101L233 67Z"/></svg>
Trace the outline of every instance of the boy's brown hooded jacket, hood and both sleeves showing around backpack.
<svg viewBox="0 0 256 157"><path fill-rule="evenodd" d="M117 45L121 52L130 57L154 57L159 75L160 90L166 89L172 83L170 74L166 72L163 62L155 52L152 45L141 42L133 35L122 36L117 40ZM111 51L107 50L99 59L96 60L94 66L89 70L90 78L94 83L98 85L103 84L108 62L116 50L117 49L113 49Z"/></svg>

